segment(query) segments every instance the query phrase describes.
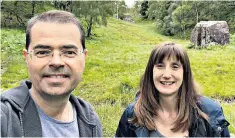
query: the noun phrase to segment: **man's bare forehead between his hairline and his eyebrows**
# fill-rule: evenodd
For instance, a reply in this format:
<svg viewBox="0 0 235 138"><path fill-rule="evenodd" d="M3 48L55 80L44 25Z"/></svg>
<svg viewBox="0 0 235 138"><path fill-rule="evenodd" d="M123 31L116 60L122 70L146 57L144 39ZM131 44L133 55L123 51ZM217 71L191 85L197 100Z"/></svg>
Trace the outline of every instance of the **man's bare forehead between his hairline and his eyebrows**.
<svg viewBox="0 0 235 138"><path fill-rule="evenodd" d="M73 23L38 22L31 29L31 46L33 48L36 45L47 45L52 48L74 45L82 48L80 31Z"/></svg>

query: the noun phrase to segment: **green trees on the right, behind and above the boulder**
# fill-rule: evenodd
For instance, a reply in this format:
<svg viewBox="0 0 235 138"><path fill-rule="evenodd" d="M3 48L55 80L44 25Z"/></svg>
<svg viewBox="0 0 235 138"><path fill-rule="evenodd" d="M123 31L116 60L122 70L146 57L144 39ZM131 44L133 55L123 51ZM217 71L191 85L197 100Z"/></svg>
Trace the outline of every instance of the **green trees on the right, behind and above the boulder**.
<svg viewBox="0 0 235 138"><path fill-rule="evenodd" d="M234 1L144 1L136 3L143 20L154 20L164 35L191 32L200 21L227 21L230 33L235 32Z"/></svg>

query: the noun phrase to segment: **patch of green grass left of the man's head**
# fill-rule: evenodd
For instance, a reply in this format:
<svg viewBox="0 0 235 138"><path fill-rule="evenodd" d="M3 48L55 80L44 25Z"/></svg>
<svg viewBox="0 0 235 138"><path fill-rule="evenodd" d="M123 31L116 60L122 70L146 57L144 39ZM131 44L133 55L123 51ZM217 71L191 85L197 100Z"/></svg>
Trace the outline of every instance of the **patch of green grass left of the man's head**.
<svg viewBox="0 0 235 138"><path fill-rule="evenodd" d="M27 78L24 48L24 31L1 29L1 91L19 85L19 79Z"/></svg>

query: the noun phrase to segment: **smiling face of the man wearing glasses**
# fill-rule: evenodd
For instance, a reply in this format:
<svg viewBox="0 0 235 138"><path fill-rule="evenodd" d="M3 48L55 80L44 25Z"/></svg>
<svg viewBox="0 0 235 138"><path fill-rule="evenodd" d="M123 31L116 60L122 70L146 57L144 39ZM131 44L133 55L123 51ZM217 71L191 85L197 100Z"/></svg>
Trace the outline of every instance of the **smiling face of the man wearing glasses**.
<svg viewBox="0 0 235 138"><path fill-rule="evenodd" d="M83 51L81 34L75 24L38 22L31 29L31 43L24 50L32 89L39 94L51 96L69 95L81 81L85 68L84 53L75 57L76 49ZM52 51L51 56L38 57ZM61 55L61 51L63 51Z"/></svg>

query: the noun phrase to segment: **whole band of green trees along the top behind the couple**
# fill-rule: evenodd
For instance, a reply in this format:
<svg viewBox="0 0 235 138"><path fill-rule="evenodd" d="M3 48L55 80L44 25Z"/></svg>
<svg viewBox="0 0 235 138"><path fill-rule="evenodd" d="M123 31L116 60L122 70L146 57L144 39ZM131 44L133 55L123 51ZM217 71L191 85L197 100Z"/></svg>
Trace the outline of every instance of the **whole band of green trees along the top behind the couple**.
<svg viewBox="0 0 235 138"><path fill-rule="evenodd" d="M187 38L200 21L227 21L230 33L235 32L234 1L136 1L128 9L121 1L2 1L2 27L24 28L35 14L60 9L74 13L84 26L86 36L92 35L95 24L107 25L107 17L156 22L156 31L163 35Z"/></svg>

